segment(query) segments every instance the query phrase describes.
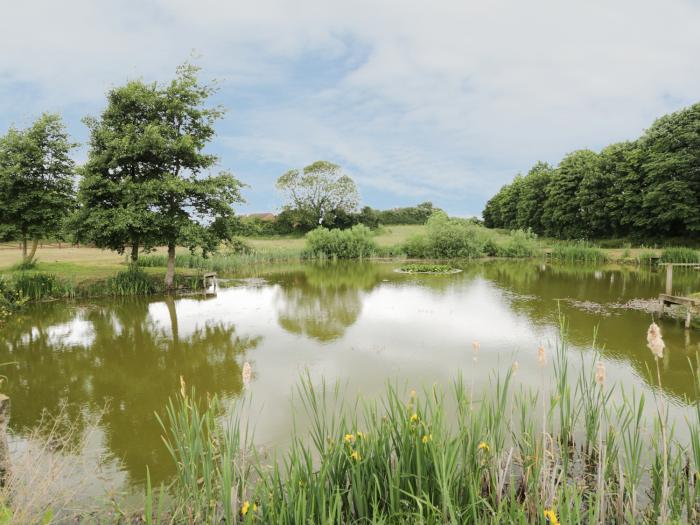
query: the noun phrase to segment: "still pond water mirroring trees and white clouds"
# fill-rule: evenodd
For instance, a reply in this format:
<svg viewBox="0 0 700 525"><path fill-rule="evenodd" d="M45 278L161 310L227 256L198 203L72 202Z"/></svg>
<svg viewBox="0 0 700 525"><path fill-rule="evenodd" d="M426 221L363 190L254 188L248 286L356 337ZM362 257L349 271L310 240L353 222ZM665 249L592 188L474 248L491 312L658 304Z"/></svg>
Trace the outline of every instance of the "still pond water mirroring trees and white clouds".
<svg viewBox="0 0 700 525"><path fill-rule="evenodd" d="M394 263L269 266L239 275L215 296L131 298L36 305L0 329L4 391L21 441L44 409L75 421L104 412L90 453L106 454L105 476L136 486L146 465L157 481L172 467L155 412L179 377L224 400L242 395L253 370L256 443L284 444L292 393L306 370L372 397L388 380L449 387L458 373L486 385L518 361L518 381L539 384L536 349L556 344L559 316L571 352L592 356L594 333L608 377L649 389L646 348L652 313L643 301L663 288L661 272L489 261L451 275L406 275ZM700 273L676 272L675 292L700 289ZM632 301L632 302L630 302ZM667 344L665 395L682 418L695 398L688 358L700 331L660 322ZM480 342L478 363L472 341ZM575 354L575 355L574 355ZM655 370L655 368L654 368ZM66 405L67 403L67 405Z"/></svg>

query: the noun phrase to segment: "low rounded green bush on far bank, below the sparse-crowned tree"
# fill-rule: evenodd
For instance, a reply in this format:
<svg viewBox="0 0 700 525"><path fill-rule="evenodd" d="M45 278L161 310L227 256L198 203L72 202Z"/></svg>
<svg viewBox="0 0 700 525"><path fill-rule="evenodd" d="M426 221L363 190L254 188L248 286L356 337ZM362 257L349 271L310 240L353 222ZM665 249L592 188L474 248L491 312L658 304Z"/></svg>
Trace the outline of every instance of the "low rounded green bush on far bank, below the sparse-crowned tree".
<svg viewBox="0 0 700 525"><path fill-rule="evenodd" d="M363 225L349 230L316 228L306 235L306 254L311 257L359 259L376 251L372 232Z"/></svg>

